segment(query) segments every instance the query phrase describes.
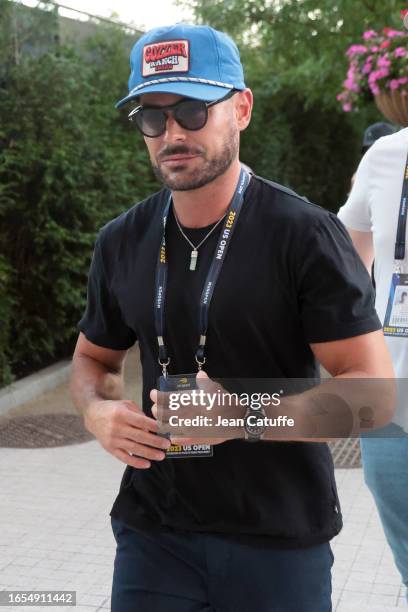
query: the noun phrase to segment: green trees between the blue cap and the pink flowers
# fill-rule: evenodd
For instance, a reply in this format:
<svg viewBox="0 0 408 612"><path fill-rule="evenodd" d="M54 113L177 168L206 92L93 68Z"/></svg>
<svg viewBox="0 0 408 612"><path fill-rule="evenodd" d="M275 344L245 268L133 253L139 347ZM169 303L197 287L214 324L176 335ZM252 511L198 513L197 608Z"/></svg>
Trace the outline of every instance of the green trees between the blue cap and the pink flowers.
<svg viewBox="0 0 408 612"><path fill-rule="evenodd" d="M257 173L337 211L361 139L382 119L373 102L345 114L336 100L345 52L362 32L401 26L405 0L184 0L198 23L237 42L254 92L241 158Z"/></svg>

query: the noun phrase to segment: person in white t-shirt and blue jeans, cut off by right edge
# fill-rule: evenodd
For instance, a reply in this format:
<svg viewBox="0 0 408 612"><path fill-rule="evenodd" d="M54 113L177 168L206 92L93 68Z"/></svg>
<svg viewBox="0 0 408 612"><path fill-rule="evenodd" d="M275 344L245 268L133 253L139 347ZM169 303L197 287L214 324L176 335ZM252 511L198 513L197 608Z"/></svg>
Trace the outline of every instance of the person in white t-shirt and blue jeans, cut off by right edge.
<svg viewBox="0 0 408 612"><path fill-rule="evenodd" d="M376 308L396 376L400 400L382 437L364 436L364 475L377 505L385 535L402 580L408 587L408 289L405 208L408 196L408 129L380 138L363 157L356 181L339 217L362 261L374 260Z"/></svg>

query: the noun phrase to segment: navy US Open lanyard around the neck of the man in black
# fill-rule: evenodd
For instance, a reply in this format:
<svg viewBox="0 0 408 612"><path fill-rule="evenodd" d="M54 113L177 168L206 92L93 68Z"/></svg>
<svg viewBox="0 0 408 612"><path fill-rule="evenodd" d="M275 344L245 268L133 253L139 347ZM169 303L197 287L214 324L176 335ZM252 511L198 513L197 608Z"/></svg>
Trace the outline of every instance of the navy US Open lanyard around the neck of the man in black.
<svg viewBox="0 0 408 612"><path fill-rule="evenodd" d="M199 329L199 345L196 351L195 359L200 370L205 363L205 344L207 340L208 328L208 313L210 309L211 299L214 289L223 266L228 247L231 242L232 235L238 222L239 213L241 212L244 202L245 190L248 187L250 180L249 174L241 168L238 183L235 188L234 195L225 215L225 221L218 239L217 248L215 249L213 260L207 273L207 278L204 283L204 288L200 298L200 329ZM167 352L167 347L164 342L164 327L165 327L165 302L168 277L168 262L166 254L166 224L170 211L172 198L171 194L163 212L163 237L160 244L159 256L157 258L156 267L156 287L155 287L155 326L157 334L157 343L159 346L159 364L163 369L163 376L167 375L167 367L170 363L170 357Z"/></svg>

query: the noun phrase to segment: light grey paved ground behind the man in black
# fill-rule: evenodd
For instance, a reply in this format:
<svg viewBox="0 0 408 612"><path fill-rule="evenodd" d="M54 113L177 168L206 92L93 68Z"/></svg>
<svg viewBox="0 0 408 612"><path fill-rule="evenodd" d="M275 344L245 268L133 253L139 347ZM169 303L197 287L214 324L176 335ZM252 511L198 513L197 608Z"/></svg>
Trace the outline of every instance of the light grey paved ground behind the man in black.
<svg viewBox="0 0 408 612"><path fill-rule="evenodd" d="M131 375L135 357L129 359L127 380L128 396L137 399L140 387ZM52 411L72 411L65 387L14 414ZM122 471L96 441L53 449L0 448L0 590L77 591L76 608L13 609L110 609L115 546L108 513ZM408 609L362 471L337 470L337 482L345 527L333 542L333 609Z"/></svg>

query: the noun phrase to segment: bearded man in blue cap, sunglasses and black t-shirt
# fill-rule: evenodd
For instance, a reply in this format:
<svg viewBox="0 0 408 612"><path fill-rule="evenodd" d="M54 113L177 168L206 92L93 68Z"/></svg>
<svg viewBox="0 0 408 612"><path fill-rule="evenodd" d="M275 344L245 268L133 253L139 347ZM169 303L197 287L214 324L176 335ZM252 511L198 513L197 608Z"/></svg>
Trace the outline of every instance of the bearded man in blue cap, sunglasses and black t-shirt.
<svg viewBox="0 0 408 612"><path fill-rule="evenodd" d="M315 358L337 378L391 376L369 277L335 215L241 170L252 93L229 37L148 32L119 105L136 99L165 188L99 235L72 378L86 426L127 464L112 610L328 612L341 514L327 445L237 427L166 456L156 389L204 363L217 379L314 378ZM136 340L143 409L121 385Z"/></svg>

